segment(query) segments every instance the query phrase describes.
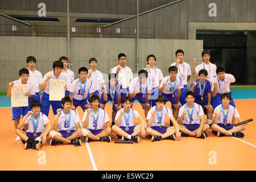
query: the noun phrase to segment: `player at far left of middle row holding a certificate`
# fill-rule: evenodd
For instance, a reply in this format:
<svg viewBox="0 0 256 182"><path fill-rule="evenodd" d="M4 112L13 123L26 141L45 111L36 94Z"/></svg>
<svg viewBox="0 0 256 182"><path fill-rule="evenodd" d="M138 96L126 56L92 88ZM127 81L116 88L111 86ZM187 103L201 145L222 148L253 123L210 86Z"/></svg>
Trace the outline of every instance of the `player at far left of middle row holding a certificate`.
<svg viewBox="0 0 256 182"><path fill-rule="evenodd" d="M36 87L35 84L32 81L28 81L29 72L28 69L22 68L19 70L19 80L15 80L14 82L9 83L9 88L7 90L7 97L11 97L11 90L14 85L22 85L27 84L28 85L28 92L26 92L24 95L28 97L28 106L24 107L12 107L13 110L13 120L14 120L14 127L15 130L18 128L19 121L22 120L23 116L30 111L30 103L32 101L32 98L34 98ZM16 137L16 141L19 141L19 136Z"/></svg>

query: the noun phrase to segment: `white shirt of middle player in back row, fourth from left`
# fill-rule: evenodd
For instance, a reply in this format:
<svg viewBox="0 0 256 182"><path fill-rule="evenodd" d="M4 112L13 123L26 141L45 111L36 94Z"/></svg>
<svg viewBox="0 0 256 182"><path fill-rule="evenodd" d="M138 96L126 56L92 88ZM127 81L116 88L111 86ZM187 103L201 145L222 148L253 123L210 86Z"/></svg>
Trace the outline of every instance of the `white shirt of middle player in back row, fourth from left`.
<svg viewBox="0 0 256 182"><path fill-rule="evenodd" d="M114 67L112 69L112 73L117 73L118 66L119 65L117 65L116 67ZM117 80L122 83L122 88L126 89L129 85L131 79L133 79L133 72L131 71L131 68L129 68L127 66L125 66L125 68L121 67L121 69L118 73Z"/></svg>

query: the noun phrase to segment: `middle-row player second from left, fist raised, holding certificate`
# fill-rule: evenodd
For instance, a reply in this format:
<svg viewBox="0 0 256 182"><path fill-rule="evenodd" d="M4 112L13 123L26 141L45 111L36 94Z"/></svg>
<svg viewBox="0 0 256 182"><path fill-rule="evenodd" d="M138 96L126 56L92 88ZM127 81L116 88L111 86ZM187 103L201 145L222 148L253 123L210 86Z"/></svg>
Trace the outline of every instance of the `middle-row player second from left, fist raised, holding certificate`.
<svg viewBox="0 0 256 182"><path fill-rule="evenodd" d="M50 71L46 73L46 75L44 75L43 82L40 85L40 90L43 91L41 96L41 104L42 104L41 111L43 114L46 114L47 116L49 114L50 105L52 105L52 110L54 115L57 114L56 110L61 108L60 101L49 101L49 83L50 83L49 80L51 79L65 80L64 89L65 91L68 90L68 87L67 87L68 78L65 75L65 73L63 73L63 63L61 61L54 61L52 64L52 68L53 68L53 71Z"/></svg>

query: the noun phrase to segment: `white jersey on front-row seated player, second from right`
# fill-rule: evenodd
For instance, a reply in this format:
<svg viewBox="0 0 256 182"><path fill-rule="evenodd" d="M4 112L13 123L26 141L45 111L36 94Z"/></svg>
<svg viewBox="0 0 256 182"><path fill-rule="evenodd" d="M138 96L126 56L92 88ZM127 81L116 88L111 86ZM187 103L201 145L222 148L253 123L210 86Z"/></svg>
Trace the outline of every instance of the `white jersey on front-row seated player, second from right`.
<svg viewBox="0 0 256 182"><path fill-rule="evenodd" d="M192 114L193 121L191 121L192 122L191 124L200 124L199 116L204 115L204 110L203 110L203 107L201 105L196 104L195 102L194 102L194 104L195 104L195 108L194 108L194 111L193 111L193 114ZM180 107L178 117L181 117L184 110L187 110L187 104L184 104L183 106ZM188 110L189 110L189 113L191 114L192 113L192 108L188 107ZM190 121L190 119L189 119L189 116L188 116L188 113L187 113L184 116L182 124L189 124L189 121Z"/></svg>

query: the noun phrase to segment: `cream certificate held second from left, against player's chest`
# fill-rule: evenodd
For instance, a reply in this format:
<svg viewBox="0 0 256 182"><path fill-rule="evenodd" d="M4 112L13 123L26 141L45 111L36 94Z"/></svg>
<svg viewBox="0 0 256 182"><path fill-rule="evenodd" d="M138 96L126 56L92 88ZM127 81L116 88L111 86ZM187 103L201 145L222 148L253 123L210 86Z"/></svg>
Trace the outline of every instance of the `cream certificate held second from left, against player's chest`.
<svg viewBox="0 0 256 182"><path fill-rule="evenodd" d="M49 101L61 101L65 97L65 80L51 79L49 85Z"/></svg>

